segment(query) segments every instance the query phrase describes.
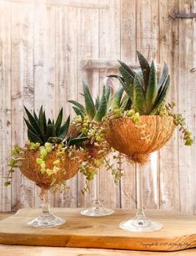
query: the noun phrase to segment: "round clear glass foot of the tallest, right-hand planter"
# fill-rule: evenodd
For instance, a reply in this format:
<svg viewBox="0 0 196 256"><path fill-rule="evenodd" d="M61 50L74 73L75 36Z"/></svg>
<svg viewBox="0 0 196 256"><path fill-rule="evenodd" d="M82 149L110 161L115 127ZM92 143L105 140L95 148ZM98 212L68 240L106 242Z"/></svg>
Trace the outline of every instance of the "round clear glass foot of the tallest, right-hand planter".
<svg viewBox="0 0 196 256"><path fill-rule="evenodd" d="M143 220L133 218L128 221L124 221L120 223L120 228L123 228L128 231L132 231L132 232L152 232L152 231L158 231L161 228L163 228L163 224L148 218Z"/></svg>

